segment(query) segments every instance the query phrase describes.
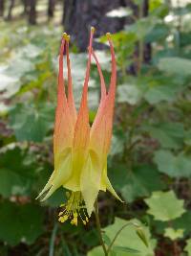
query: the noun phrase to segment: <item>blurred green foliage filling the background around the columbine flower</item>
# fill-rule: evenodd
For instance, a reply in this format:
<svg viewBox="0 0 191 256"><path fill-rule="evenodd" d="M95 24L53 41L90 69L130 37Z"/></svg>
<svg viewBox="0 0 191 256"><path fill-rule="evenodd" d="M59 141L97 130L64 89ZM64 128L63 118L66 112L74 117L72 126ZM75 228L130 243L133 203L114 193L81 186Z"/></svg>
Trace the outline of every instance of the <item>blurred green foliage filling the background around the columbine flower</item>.
<svg viewBox="0 0 191 256"><path fill-rule="evenodd" d="M101 256L94 216L87 226L57 222L64 190L35 200L53 171L58 49L63 24L67 28L63 11L74 5L47 2L30 1L25 10L19 1L0 1L0 255ZM106 11L96 10L106 18L104 31L112 20L121 26L113 34L118 80L108 175L125 203L99 195L105 244L137 221L149 246L128 226L111 256L190 256L191 3L123 1ZM75 37L90 25L95 17L76 36L72 32L76 106L87 55ZM96 53L109 81L110 56L99 33ZM92 123L100 92L95 64L89 85Z"/></svg>

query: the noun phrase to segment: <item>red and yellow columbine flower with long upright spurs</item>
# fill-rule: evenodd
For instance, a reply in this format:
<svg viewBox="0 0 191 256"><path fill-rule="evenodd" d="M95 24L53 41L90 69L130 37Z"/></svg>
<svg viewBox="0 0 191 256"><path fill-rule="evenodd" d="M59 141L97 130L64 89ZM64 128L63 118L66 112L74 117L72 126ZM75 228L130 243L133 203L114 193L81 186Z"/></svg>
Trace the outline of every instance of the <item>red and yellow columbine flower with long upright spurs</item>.
<svg viewBox="0 0 191 256"><path fill-rule="evenodd" d="M110 34L107 38L112 56L112 76L108 92L101 72L99 62L93 50L93 35L91 29L88 63L82 91L81 104L76 113L74 106L73 85L69 58L70 36L63 34L59 54L59 74L57 87L57 108L53 135L54 171L48 183L40 193L47 192L43 200L63 186L68 189L68 201L61 205L59 221L68 219L77 224L80 218L84 224L91 216L99 190L109 190L118 198L107 176L107 154L109 152L115 93L117 82L117 67L114 47ZM65 93L63 79L63 51L66 50L68 67L68 96ZM90 127L87 104L88 82L90 77L91 58L95 58L101 84L101 99L95 121ZM120 198L118 198L120 199Z"/></svg>

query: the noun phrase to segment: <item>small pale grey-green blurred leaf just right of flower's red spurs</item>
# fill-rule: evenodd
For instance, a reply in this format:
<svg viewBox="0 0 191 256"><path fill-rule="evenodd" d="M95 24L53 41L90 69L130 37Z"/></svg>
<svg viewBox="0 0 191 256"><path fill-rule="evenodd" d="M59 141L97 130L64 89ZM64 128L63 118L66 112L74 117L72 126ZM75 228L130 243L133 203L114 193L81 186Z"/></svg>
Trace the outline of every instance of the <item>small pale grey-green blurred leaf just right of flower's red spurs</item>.
<svg viewBox="0 0 191 256"><path fill-rule="evenodd" d="M141 93L136 84L121 84L117 86L118 103L138 104Z"/></svg>

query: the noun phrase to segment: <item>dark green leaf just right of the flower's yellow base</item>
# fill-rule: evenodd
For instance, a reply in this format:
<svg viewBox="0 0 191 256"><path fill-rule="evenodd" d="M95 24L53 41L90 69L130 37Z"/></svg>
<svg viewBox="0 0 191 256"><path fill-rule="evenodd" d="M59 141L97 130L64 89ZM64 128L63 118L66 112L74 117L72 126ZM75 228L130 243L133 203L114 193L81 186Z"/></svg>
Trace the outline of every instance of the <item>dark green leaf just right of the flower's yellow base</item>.
<svg viewBox="0 0 191 256"><path fill-rule="evenodd" d="M109 172L114 187L127 202L149 197L153 191L165 188L158 170L151 165L139 165L131 172L123 165L114 165Z"/></svg>

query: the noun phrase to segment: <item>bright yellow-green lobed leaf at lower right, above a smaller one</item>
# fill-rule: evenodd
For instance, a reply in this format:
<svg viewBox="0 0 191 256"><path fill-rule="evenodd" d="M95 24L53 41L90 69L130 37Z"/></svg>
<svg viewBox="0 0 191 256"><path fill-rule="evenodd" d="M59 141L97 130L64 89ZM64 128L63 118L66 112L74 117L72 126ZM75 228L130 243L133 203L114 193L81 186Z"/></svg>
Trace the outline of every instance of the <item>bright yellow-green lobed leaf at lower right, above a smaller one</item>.
<svg viewBox="0 0 191 256"><path fill-rule="evenodd" d="M173 191L154 192L145 202L149 206L147 212L158 221L172 221L185 212L183 200L178 199Z"/></svg>

